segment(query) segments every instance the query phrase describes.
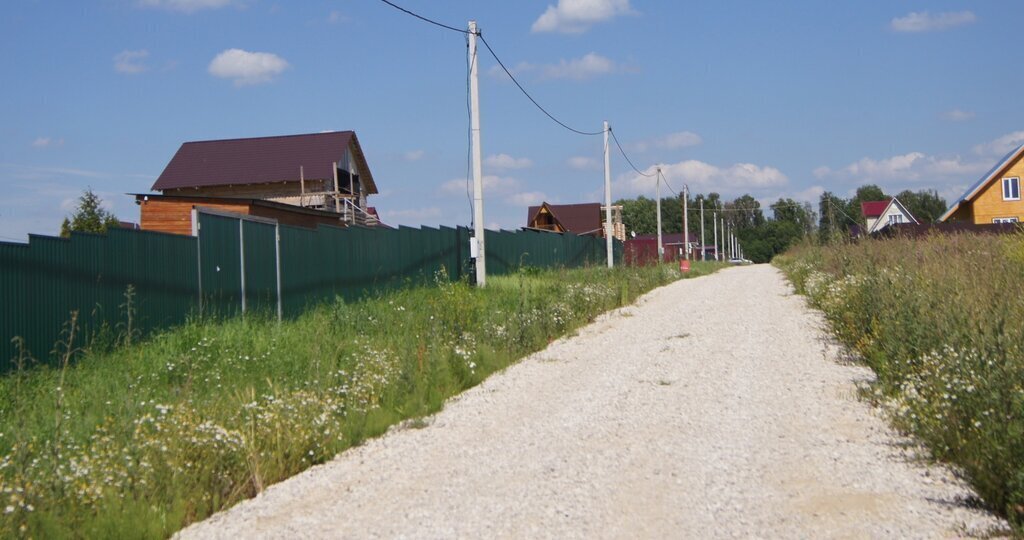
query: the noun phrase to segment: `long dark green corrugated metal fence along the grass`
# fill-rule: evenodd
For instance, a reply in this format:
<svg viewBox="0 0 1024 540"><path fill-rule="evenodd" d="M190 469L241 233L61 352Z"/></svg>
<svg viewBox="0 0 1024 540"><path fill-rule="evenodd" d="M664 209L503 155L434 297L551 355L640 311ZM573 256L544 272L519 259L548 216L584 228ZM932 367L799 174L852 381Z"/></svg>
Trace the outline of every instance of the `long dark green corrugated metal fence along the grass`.
<svg viewBox="0 0 1024 540"><path fill-rule="evenodd" d="M0 373L14 366L15 336L38 361L54 362L51 351L73 311L81 345L103 332L125 335L129 324L141 336L194 314L296 317L336 296L428 283L442 268L451 280L473 278L465 227L312 231L205 210L197 219L197 237L112 230L0 242ZM606 257L603 239L485 235L488 275L602 264ZM622 243L614 249L618 260Z"/></svg>

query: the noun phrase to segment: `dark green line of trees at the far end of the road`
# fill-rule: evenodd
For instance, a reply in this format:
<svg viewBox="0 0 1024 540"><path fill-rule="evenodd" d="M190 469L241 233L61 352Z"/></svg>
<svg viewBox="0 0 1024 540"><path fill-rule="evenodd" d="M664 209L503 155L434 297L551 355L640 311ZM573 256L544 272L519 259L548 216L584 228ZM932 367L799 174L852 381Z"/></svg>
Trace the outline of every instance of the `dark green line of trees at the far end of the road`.
<svg viewBox="0 0 1024 540"><path fill-rule="evenodd" d="M815 242L833 242L849 238L855 226L864 225L860 204L868 201L886 201L891 196L874 184L862 185L854 196L844 199L831 192L821 194L817 209L811 203L801 203L790 198L779 198L768 208L750 194L731 201L721 195L690 195L687 201L690 234L700 242L700 206L703 205L705 243L714 242L715 219L725 223L739 239L743 256L754 262L768 262L794 244L809 239ZM934 190L912 192L905 190L896 195L901 203L922 223L933 222L946 210L946 201ZM652 235L657 232L657 201L646 197L620 199L623 221L628 233ZM766 213L767 212L767 213ZM662 232L683 232L682 195L662 199Z"/></svg>

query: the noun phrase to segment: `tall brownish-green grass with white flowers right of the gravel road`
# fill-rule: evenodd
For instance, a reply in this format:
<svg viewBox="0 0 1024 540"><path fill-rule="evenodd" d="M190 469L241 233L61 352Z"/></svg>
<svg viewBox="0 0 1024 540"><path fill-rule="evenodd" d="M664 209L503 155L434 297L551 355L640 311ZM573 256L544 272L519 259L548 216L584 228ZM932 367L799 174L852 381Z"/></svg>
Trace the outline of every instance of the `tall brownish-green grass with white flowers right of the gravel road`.
<svg viewBox="0 0 1024 540"><path fill-rule="evenodd" d="M876 371L896 425L1024 532L1024 234L804 246L776 263Z"/></svg>

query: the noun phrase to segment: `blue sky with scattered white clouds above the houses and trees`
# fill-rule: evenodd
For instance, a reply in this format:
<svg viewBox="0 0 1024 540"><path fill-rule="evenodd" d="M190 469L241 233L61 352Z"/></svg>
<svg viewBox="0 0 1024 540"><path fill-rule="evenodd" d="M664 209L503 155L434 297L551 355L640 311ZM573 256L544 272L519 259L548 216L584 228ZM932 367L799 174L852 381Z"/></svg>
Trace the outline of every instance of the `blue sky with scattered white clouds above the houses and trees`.
<svg viewBox="0 0 1024 540"><path fill-rule="evenodd" d="M395 0L463 28L565 123L726 198L874 182L947 200L1024 142L1024 2ZM393 224L468 224L465 36L379 0L11 0L0 19L0 240L86 186L126 220L183 141L355 130ZM570 133L481 50L485 221L601 198ZM1015 99L1017 97L1017 99ZM612 155L613 197L651 180ZM665 193L668 195L668 193Z"/></svg>

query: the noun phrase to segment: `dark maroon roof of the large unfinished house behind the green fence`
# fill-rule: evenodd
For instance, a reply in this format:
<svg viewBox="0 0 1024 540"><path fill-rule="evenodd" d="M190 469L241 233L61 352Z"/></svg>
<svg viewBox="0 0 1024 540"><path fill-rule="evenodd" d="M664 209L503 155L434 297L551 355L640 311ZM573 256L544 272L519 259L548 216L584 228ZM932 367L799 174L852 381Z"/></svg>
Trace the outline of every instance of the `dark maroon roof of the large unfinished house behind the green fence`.
<svg viewBox="0 0 1024 540"><path fill-rule="evenodd" d="M185 142L153 190L298 181L300 168L306 179L334 179L332 164L344 168L350 142L359 179L376 194L354 131Z"/></svg>

